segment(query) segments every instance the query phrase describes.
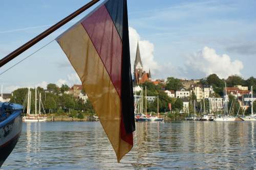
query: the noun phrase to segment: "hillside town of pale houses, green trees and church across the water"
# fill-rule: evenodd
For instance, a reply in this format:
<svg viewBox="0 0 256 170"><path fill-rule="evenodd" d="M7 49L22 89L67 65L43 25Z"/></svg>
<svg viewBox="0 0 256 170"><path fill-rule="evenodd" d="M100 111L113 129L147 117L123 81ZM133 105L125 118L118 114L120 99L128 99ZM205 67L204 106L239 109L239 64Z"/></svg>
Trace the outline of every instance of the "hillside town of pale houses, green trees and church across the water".
<svg viewBox="0 0 256 170"><path fill-rule="evenodd" d="M220 79L218 75L212 74L207 78L187 80L177 79L174 77L168 77L164 79L152 79L151 70L143 69L143 61L141 59L139 42L137 43L136 57L134 61L134 75L133 75L133 91L135 103L140 98L146 99L146 105L148 112L153 114L156 110L156 99L159 95L159 111L160 112L179 112L189 114L189 112L200 112L202 110L208 110L208 112L216 113L221 112L224 104L224 96L229 96L229 105L237 104L234 111L238 111L240 114L243 111L249 109L252 105L252 101L256 100L256 95L251 96L251 86L255 85L256 79L251 77L248 80L243 80L239 76L230 76L228 79ZM247 85L247 86L246 86ZM147 88L147 92L145 92ZM86 104L89 98L86 92L83 90L81 84L74 84L69 87L63 84L58 87L56 84L48 84L47 89L37 87L45 96L43 99L45 107L48 112L57 112L59 110L68 111L71 110L83 111L78 109L77 103ZM0 95L0 101L2 102L14 102L24 104L25 96L28 88L20 88L14 90L12 93L2 93ZM141 91L147 93L147 96L141 96ZM33 93L33 89L32 89ZM60 99L61 98L61 99ZM68 104L60 103L60 101L70 100ZM89 102L89 107L92 110L92 106ZM145 105L145 104L144 104ZM193 109L194 107L194 109ZM231 107L231 106L230 106ZM248 109L249 108L249 109ZM246 112L246 113L247 113Z"/></svg>

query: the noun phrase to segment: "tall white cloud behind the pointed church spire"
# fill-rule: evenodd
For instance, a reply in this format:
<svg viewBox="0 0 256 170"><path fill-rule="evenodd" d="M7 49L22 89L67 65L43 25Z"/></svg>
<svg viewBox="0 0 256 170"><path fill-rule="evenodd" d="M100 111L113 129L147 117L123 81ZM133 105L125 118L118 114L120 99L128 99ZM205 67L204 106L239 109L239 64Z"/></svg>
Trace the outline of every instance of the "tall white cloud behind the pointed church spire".
<svg viewBox="0 0 256 170"><path fill-rule="evenodd" d="M158 63L154 60L154 44L148 40L141 40L138 32L132 27L129 27L129 39L132 71L136 57L137 41L139 41L143 69L145 71L151 69L151 72L154 75L159 69Z"/></svg>

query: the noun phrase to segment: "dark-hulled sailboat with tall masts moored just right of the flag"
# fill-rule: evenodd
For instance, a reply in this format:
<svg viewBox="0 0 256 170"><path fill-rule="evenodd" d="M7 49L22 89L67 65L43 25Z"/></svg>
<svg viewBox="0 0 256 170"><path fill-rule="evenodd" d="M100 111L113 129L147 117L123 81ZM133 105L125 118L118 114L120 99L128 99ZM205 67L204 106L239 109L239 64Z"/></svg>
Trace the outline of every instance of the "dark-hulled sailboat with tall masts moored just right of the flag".
<svg viewBox="0 0 256 170"><path fill-rule="evenodd" d="M142 88L142 93L141 96L143 96L143 88ZM157 116L151 116L151 115L147 115L147 111L146 111L146 87L145 87L145 114L142 113L143 111L143 99L141 99L141 114L140 115L135 115L135 121L136 122L153 122L153 121L157 121L157 122L163 122L163 118L159 118L159 103L158 103L158 96L157 96ZM135 107L136 108L136 107Z"/></svg>

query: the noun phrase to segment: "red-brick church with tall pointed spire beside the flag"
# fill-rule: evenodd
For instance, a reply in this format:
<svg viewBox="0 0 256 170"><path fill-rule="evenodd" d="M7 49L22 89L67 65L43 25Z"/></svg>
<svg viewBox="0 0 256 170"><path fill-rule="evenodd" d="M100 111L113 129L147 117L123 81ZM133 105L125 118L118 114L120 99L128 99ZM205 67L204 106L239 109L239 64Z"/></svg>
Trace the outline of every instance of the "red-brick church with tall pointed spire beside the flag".
<svg viewBox="0 0 256 170"><path fill-rule="evenodd" d="M143 64L140 58L139 42L137 44L136 58L134 62L134 84L138 85L144 82L151 82L151 72L143 70Z"/></svg>

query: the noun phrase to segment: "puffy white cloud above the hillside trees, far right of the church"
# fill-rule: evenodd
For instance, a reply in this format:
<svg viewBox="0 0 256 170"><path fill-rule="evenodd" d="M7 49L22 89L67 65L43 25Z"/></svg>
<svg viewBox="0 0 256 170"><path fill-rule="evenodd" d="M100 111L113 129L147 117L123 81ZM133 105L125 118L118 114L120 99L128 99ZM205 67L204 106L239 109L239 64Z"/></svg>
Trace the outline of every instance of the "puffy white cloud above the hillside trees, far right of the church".
<svg viewBox="0 0 256 170"><path fill-rule="evenodd" d="M213 48L205 46L202 51L191 55L186 61L187 71L201 72L204 76L217 74L220 78L230 75L240 75L243 63L239 60L231 61L226 54L218 55Z"/></svg>

